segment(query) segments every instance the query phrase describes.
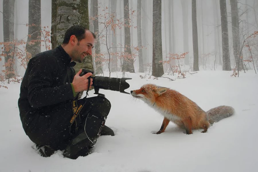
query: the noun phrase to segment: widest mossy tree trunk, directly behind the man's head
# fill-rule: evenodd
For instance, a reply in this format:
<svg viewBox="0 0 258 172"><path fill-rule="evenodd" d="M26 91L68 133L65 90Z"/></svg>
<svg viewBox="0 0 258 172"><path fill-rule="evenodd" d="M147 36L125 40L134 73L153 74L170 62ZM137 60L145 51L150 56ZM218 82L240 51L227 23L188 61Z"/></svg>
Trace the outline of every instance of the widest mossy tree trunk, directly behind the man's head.
<svg viewBox="0 0 258 172"><path fill-rule="evenodd" d="M64 34L68 28L79 24L89 30L88 0L66 1L59 0L58 3L52 0L52 44L62 44ZM52 48L55 48L53 47ZM92 56L86 56L82 63L75 65L75 71L85 68L94 71Z"/></svg>

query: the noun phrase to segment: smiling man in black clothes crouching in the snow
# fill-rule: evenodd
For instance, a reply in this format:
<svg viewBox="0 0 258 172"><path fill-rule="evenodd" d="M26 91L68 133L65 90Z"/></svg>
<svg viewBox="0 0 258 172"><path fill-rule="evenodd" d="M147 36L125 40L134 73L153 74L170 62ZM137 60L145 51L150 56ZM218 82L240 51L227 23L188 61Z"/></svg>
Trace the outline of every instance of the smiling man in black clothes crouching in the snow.
<svg viewBox="0 0 258 172"><path fill-rule="evenodd" d="M62 45L30 59L21 82L18 100L21 123L40 155L49 157L64 150L64 157L89 154L99 135L114 132L104 126L111 104L105 97L76 99L92 85L92 73L75 74L75 62L92 54L95 34L72 26ZM90 83L89 83L90 82Z"/></svg>

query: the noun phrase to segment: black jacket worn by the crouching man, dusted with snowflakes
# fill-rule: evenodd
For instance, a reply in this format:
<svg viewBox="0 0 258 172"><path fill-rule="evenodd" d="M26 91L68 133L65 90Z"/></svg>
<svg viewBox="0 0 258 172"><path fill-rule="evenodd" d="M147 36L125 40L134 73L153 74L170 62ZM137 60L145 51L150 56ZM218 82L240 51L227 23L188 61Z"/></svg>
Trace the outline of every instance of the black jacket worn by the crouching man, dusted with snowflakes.
<svg viewBox="0 0 258 172"><path fill-rule="evenodd" d="M62 46L31 58L21 82L18 107L26 132L36 114L44 114L60 103L74 98L71 82L74 62Z"/></svg>

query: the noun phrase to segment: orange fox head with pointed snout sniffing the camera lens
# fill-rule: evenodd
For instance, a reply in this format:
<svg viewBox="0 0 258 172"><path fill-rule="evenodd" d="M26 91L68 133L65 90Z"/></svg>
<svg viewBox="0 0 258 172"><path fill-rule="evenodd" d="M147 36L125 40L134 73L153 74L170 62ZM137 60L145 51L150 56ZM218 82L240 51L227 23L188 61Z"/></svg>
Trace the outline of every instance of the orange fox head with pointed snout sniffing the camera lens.
<svg viewBox="0 0 258 172"><path fill-rule="evenodd" d="M146 84L138 90L132 90L131 95L137 99L143 100L148 104L153 104L155 103L156 97L160 96L166 91L167 88L165 87L160 87L154 84Z"/></svg>

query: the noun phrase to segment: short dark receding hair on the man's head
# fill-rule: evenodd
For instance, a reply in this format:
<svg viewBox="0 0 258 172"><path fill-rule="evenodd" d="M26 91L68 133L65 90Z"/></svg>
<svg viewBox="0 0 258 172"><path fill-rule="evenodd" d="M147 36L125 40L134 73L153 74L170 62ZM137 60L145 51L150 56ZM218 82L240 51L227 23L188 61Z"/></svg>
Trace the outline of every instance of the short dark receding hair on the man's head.
<svg viewBox="0 0 258 172"><path fill-rule="evenodd" d="M86 30L88 30L88 29L86 29L85 27L83 27L81 25L71 26L69 29L67 29L67 31L64 34L63 44L68 44L69 40L70 40L70 37L72 35L75 35L78 41L84 39ZM91 34L93 35L93 37L95 39L96 35L93 32L91 32Z"/></svg>

